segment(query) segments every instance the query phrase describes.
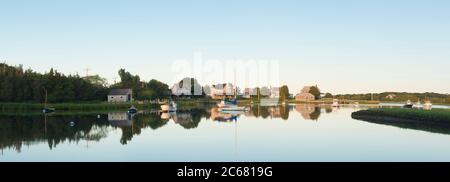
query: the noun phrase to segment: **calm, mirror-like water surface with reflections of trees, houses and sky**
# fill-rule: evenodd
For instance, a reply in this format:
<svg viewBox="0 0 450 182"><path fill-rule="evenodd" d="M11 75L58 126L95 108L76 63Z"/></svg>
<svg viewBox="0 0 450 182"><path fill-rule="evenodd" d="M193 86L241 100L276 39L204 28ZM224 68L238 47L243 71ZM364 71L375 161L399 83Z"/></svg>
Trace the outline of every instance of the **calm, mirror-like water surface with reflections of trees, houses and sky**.
<svg viewBox="0 0 450 182"><path fill-rule="evenodd" d="M0 116L0 161L450 161L448 132L354 120L362 108Z"/></svg>

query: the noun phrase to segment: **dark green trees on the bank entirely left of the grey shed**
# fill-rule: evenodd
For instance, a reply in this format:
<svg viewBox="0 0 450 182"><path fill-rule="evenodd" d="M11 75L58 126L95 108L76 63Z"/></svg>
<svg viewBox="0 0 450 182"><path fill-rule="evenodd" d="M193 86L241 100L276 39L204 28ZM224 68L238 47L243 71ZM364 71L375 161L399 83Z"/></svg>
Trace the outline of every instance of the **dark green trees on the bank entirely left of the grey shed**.
<svg viewBox="0 0 450 182"><path fill-rule="evenodd" d="M40 74L23 67L0 64L0 102L74 102L104 100L108 88L79 75L51 69Z"/></svg>

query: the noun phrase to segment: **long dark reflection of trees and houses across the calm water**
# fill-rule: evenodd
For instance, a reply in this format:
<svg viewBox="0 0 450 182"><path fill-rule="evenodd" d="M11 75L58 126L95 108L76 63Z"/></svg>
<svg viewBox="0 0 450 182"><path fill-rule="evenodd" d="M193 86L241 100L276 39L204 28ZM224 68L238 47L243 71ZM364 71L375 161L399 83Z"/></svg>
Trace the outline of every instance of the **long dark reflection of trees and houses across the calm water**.
<svg viewBox="0 0 450 182"><path fill-rule="evenodd" d="M109 112L90 115L33 115L0 116L0 149L47 142L50 149L63 142L100 141L115 129L122 131L120 143L129 143L146 128L157 130L173 121L184 129L195 129L201 121L237 122L240 117L288 120L290 113L300 114L305 120L317 121L322 112L331 113L332 108L316 105L251 106L248 112L220 112L218 108L203 108L177 113Z"/></svg>

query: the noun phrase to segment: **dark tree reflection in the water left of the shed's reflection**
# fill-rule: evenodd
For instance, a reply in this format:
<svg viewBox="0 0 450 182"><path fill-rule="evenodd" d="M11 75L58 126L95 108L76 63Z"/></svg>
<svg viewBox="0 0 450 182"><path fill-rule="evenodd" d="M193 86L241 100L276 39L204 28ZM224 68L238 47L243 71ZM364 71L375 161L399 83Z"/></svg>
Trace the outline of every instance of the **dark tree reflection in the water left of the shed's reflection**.
<svg viewBox="0 0 450 182"><path fill-rule="evenodd" d="M47 142L50 149L62 142L99 141L107 136L108 120L94 116L1 116L0 149L20 152L25 145Z"/></svg>

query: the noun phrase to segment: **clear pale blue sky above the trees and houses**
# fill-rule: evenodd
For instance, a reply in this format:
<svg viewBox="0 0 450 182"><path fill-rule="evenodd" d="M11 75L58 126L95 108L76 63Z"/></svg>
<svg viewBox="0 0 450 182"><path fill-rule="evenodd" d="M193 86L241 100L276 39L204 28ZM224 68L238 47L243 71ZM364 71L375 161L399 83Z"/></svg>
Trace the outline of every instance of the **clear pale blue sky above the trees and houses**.
<svg viewBox="0 0 450 182"><path fill-rule="evenodd" d="M172 84L171 62L194 51L280 60L293 93L450 93L450 1L0 0L12 65Z"/></svg>

